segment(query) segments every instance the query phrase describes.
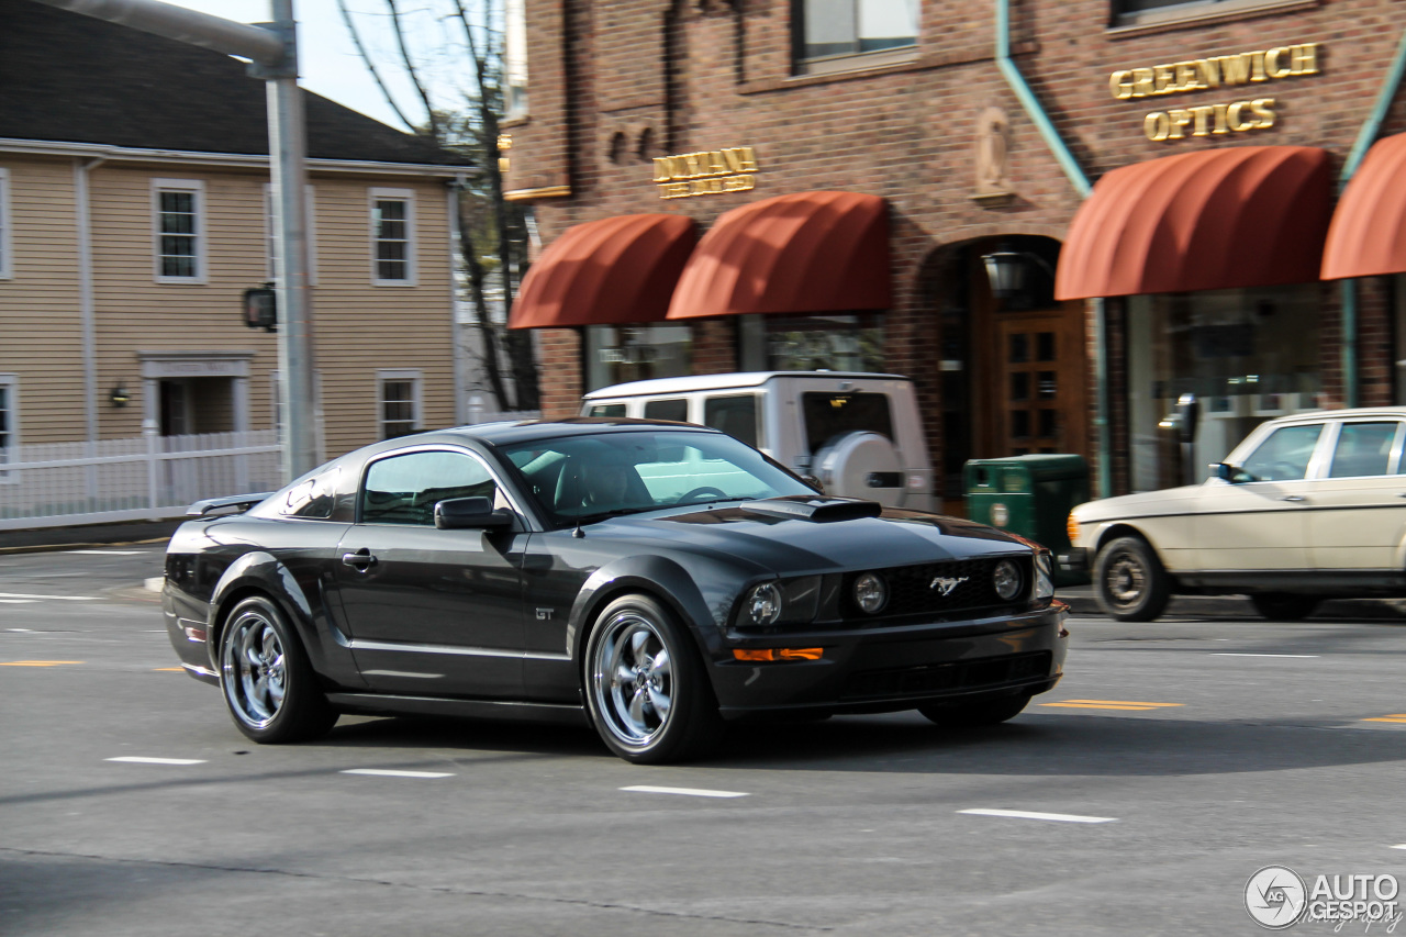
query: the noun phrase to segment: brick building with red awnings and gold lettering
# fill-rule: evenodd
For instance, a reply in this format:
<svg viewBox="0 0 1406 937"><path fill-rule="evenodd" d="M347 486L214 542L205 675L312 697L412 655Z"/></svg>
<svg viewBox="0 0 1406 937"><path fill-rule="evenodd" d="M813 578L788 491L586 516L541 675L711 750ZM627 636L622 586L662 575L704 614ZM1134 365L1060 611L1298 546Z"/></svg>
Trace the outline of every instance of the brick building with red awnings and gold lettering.
<svg viewBox="0 0 1406 937"><path fill-rule="evenodd" d="M952 508L966 459L1021 452L1088 456L1104 494L1173 484L1157 425L1187 393L1194 461L1274 414L1406 400L1406 183L1392 139L1362 159L1406 132L1399 0L509 15L506 184L546 245L515 322L548 414L675 373L908 374ZM1322 279L1330 221L1327 274L1357 280Z"/></svg>

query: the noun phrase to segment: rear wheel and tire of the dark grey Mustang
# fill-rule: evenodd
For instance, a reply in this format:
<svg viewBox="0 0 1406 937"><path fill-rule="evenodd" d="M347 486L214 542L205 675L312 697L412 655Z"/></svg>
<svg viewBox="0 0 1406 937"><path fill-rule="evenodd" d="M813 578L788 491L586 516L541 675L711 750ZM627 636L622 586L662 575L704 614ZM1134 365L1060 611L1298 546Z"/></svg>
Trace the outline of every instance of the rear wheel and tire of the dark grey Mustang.
<svg viewBox="0 0 1406 937"><path fill-rule="evenodd" d="M225 619L219 689L235 726L260 744L318 739L337 720L292 626L263 595L243 599Z"/></svg>

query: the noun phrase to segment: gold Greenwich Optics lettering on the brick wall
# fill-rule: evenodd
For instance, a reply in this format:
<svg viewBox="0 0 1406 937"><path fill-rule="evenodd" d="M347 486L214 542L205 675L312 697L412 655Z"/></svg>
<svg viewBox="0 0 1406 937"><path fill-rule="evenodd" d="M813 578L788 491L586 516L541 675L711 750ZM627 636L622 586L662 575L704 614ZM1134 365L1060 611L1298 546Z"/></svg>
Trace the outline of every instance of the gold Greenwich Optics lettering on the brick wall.
<svg viewBox="0 0 1406 937"><path fill-rule="evenodd" d="M1220 87L1267 84L1319 75L1322 49L1322 42L1301 42L1256 52L1170 62L1152 68L1119 69L1108 76L1108 89L1115 98L1125 101ZM1143 117L1143 134L1150 141L1161 142L1270 129L1274 122L1275 98L1263 96L1222 104L1197 104L1152 111Z"/></svg>

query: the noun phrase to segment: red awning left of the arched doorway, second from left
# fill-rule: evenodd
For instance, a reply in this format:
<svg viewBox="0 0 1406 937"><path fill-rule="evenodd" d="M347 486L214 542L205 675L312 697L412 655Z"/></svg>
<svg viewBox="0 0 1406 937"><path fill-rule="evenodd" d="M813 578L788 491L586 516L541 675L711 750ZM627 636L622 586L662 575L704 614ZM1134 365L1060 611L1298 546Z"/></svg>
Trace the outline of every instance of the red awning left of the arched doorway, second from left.
<svg viewBox="0 0 1406 937"><path fill-rule="evenodd" d="M776 196L723 214L699 241L671 319L886 310L889 211L853 191Z"/></svg>

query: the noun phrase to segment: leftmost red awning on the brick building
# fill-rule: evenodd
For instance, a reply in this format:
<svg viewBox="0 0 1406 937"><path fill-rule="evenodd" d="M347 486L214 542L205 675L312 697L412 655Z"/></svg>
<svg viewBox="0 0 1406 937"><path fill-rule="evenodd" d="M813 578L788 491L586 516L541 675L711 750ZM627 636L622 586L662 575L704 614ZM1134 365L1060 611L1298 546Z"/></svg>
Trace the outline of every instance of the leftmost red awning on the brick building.
<svg viewBox="0 0 1406 937"><path fill-rule="evenodd" d="M695 228L682 215L617 215L568 228L523 277L508 328L662 321Z"/></svg>

